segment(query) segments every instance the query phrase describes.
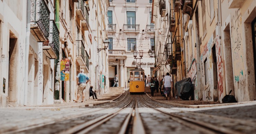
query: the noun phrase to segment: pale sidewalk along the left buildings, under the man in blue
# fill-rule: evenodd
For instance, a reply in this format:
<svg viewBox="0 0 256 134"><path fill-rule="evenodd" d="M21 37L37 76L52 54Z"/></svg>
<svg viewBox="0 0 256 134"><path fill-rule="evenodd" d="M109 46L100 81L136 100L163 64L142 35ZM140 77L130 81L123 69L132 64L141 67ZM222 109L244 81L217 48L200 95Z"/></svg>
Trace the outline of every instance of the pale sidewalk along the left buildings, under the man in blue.
<svg viewBox="0 0 256 134"><path fill-rule="evenodd" d="M99 105L104 103L109 103L112 100L116 99L124 92L124 89L120 88L112 88L107 91L107 93L103 95L97 95L98 99L89 99L85 102L65 102L61 104L49 104L49 105L35 105L35 106L19 106L19 107L6 107L0 109L19 109L19 110L62 110L62 109L72 109L72 108L81 108L86 106ZM90 97L92 98L92 96Z"/></svg>

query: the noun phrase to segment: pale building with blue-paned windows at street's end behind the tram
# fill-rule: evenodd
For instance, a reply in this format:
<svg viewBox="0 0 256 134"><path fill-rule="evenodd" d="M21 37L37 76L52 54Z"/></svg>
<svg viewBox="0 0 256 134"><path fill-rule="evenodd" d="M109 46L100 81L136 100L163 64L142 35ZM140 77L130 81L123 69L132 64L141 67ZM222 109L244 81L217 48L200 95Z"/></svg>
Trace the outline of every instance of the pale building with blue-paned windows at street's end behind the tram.
<svg viewBox="0 0 256 134"><path fill-rule="evenodd" d="M153 76L155 58L150 57L149 50L154 51L154 24L150 23L152 0L110 0L108 8L109 43L109 84L113 86L114 76L118 75L120 87L128 87L129 70L136 68L133 52L143 50L143 58L137 65L145 70L146 75ZM140 63L139 63L140 62Z"/></svg>

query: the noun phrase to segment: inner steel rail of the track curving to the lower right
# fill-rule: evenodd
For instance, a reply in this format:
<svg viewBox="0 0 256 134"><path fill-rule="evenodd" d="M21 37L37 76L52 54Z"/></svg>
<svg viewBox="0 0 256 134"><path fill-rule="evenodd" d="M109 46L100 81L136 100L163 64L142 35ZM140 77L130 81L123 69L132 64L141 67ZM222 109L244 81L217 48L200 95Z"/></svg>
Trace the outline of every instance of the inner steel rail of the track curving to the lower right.
<svg viewBox="0 0 256 134"><path fill-rule="evenodd" d="M188 127L192 128L194 130L198 130L202 133L208 133L208 134L215 134L215 133L219 133L219 134L242 134L241 132L233 131L233 130L227 129L225 127L215 126L215 125L212 125L210 123L195 121L195 120L192 120L192 119L187 118L187 117L182 117L182 116L179 116L179 115L171 114L171 113L156 109L156 108L152 107L152 105L146 104L141 99L140 96L139 96L139 99L147 107L150 107L150 108L152 108L152 109L154 109L158 112L164 113L164 114L168 115L172 120L174 120L176 122L179 122L179 123L181 123L185 126L188 126ZM146 102L148 102L144 97L143 97L143 99ZM150 102L148 102L148 103L150 103ZM153 104L153 103L150 103L150 104ZM156 104L153 104L153 105L156 105Z"/></svg>

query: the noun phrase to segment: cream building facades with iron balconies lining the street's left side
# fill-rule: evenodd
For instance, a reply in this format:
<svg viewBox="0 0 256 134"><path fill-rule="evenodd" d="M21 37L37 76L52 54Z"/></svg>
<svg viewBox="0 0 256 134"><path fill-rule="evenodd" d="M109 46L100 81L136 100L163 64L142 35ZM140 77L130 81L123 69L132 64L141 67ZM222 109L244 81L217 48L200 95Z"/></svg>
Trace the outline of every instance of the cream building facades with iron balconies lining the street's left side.
<svg viewBox="0 0 256 134"><path fill-rule="evenodd" d="M107 53L97 49L107 39L108 6L108 0L0 1L0 107L72 102L81 69L91 79L85 99L90 85L104 94Z"/></svg>

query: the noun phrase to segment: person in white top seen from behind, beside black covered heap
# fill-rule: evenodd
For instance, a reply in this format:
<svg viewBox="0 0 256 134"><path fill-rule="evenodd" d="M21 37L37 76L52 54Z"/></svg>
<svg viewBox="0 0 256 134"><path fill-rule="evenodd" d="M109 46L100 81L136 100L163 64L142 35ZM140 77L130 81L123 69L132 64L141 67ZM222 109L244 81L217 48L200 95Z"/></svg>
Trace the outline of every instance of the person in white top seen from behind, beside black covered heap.
<svg viewBox="0 0 256 134"><path fill-rule="evenodd" d="M168 96L170 96L171 88L173 87L173 81L170 76L170 73L166 73L166 76L164 76L163 86L164 86L164 94L166 97L165 99L168 100ZM170 99L171 99L171 96L170 96Z"/></svg>

